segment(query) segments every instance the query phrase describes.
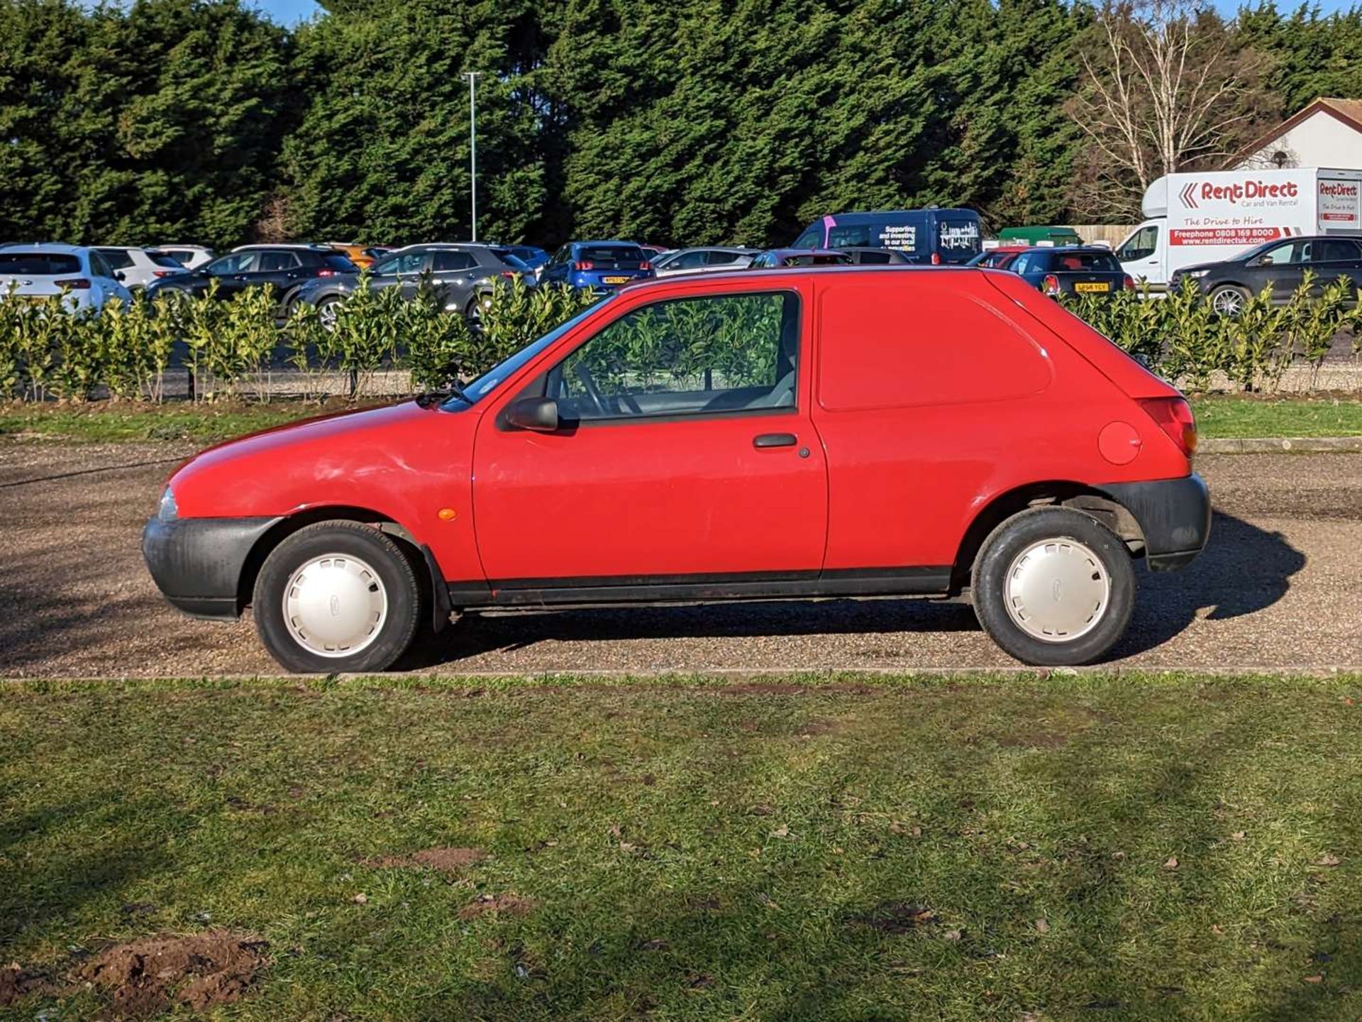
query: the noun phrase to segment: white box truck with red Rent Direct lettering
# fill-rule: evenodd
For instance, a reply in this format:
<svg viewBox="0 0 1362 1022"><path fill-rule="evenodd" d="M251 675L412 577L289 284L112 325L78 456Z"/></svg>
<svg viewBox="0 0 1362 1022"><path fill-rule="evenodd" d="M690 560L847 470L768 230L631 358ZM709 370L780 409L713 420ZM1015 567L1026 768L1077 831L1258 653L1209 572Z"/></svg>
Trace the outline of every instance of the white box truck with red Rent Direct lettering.
<svg viewBox="0 0 1362 1022"><path fill-rule="evenodd" d="M1175 270L1216 263L1264 241L1362 233L1362 170L1216 170L1166 174L1140 203L1145 221L1115 249L1151 292Z"/></svg>

